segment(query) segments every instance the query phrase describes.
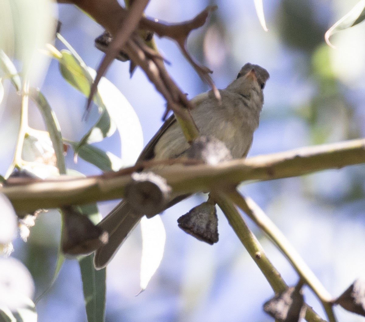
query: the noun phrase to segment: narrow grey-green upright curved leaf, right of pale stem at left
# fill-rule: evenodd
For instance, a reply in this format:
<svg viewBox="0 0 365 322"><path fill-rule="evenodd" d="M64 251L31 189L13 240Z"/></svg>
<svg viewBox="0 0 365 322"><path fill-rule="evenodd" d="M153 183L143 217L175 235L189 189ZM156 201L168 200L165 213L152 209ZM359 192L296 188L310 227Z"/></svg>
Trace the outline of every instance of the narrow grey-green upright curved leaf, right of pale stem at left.
<svg viewBox="0 0 365 322"><path fill-rule="evenodd" d="M35 104L37 104L38 109L42 114L43 120L45 121L46 128L52 141L52 145L56 155L59 174L66 174L62 134L57 117L53 112L51 106L48 104L46 98L41 92L39 92L38 89L31 89L30 94L32 100L35 102Z"/></svg>

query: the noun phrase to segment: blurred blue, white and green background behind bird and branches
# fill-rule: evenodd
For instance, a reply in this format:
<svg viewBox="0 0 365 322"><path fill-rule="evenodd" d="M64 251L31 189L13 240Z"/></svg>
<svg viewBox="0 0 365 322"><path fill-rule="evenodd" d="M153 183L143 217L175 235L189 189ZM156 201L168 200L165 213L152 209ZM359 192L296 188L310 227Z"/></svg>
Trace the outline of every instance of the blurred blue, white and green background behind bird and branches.
<svg viewBox="0 0 365 322"><path fill-rule="evenodd" d="M210 20L188 39L190 53L214 71L212 78L224 88L246 62L265 67L270 79L264 90L261 123L249 156L285 151L314 144L365 136L365 25L342 31L324 42L326 30L347 13L356 0L266 0L264 12L269 31L258 21L254 1L151 1L148 16L167 22L191 19L209 4L217 4ZM103 54L94 39L102 28L72 5L59 5L61 34L94 69ZM168 39L156 39L170 61L168 70L180 88L192 98L208 90ZM58 49L64 48L57 41ZM115 61L106 77L135 109L145 143L161 126L165 102L145 74L137 69L132 78L128 63ZM51 61L41 88L55 110L63 135L79 140L96 119L82 121L85 98L61 77ZM19 102L1 108L0 173L7 170L14 151ZM93 117L95 117L93 119ZM43 129L36 109L31 126ZM118 135L96 146L118 155ZM100 171L73 155L67 166L84 174ZM351 166L300 178L242 186L277 224L333 296L342 293L365 268L365 171ZM219 243L204 244L177 227L176 220L204 201L197 195L166 210L166 247L160 268L147 289L139 292L141 232L137 228L107 269L106 321L272 321L262 304L273 296L260 270L235 236L222 213ZM105 216L116 204L100 204ZM269 259L288 284L298 280L287 260L261 232L251 225ZM18 238L12 257L29 269L35 297L48 287L57 259L60 216L41 214L28 242ZM322 307L309 290L307 303L324 317ZM335 309L339 321L364 318ZM54 286L37 303L40 322L86 321L80 272L76 260L66 260Z"/></svg>

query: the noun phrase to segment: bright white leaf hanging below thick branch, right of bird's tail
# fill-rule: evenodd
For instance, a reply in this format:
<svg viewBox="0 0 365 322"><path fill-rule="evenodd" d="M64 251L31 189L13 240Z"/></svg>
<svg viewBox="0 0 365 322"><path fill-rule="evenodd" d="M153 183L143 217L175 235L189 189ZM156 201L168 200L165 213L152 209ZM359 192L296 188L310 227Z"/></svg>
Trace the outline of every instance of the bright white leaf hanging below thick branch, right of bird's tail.
<svg viewBox="0 0 365 322"><path fill-rule="evenodd" d="M142 259L141 290L145 290L151 277L160 266L164 255L166 232L161 217L156 215L150 219L145 216L141 220Z"/></svg>

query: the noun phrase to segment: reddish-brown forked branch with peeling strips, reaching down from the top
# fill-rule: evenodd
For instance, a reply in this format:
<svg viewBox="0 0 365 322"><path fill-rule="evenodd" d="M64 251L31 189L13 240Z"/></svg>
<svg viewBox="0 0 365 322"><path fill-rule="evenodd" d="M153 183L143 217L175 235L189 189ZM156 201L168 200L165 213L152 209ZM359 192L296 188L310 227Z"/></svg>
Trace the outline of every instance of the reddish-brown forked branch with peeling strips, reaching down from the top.
<svg viewBox="0 0 365 322"><path fill-rule="evenodd" d="M142 30L155 32L159 36L166 36L175 40L197 74L199 74L201 79L208 82L217 99L220 99L219 91L209 75L211 71L204 66L198 65L185 47L186 39L190 32L203 26L209 13L215 10L216 6L205 8L199 15L187 22L165 24L142 16L143 8L148 0L134 1L130 10L121 7L116 0L58 0L58 2L77 5L108 30L114 38L97 70L97 76L93 82L87 106L91 103L100 77L119 53L119 50L123 50L130 57L133 66L141 66L156 89L165 97L167 102L165 115L167 115L170 109L173 110L179 119L179 123L183 124L182 129L187 141L191 142L199 136L199 130L189 113L192 104L171 79L158 52L153 51L151 53L151 49L142 41L141 36L133 31L138 27Z"/></svg>

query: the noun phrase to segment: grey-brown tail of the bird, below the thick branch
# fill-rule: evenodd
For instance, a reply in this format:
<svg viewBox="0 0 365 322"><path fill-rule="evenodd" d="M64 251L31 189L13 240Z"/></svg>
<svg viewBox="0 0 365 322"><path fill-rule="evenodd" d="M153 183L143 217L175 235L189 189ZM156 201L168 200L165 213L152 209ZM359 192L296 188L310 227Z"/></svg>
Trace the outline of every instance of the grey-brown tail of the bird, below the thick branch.
<svg viewBox="0 0 365 322"><path fill-rule="evenodd" d="M95 252L94 265L96 269L105 267L111 261L141 218L141 215L132 212L128 202L121 201L108 216L100 221L98 226L108 232L109 240L107 244Z"/></svg>

